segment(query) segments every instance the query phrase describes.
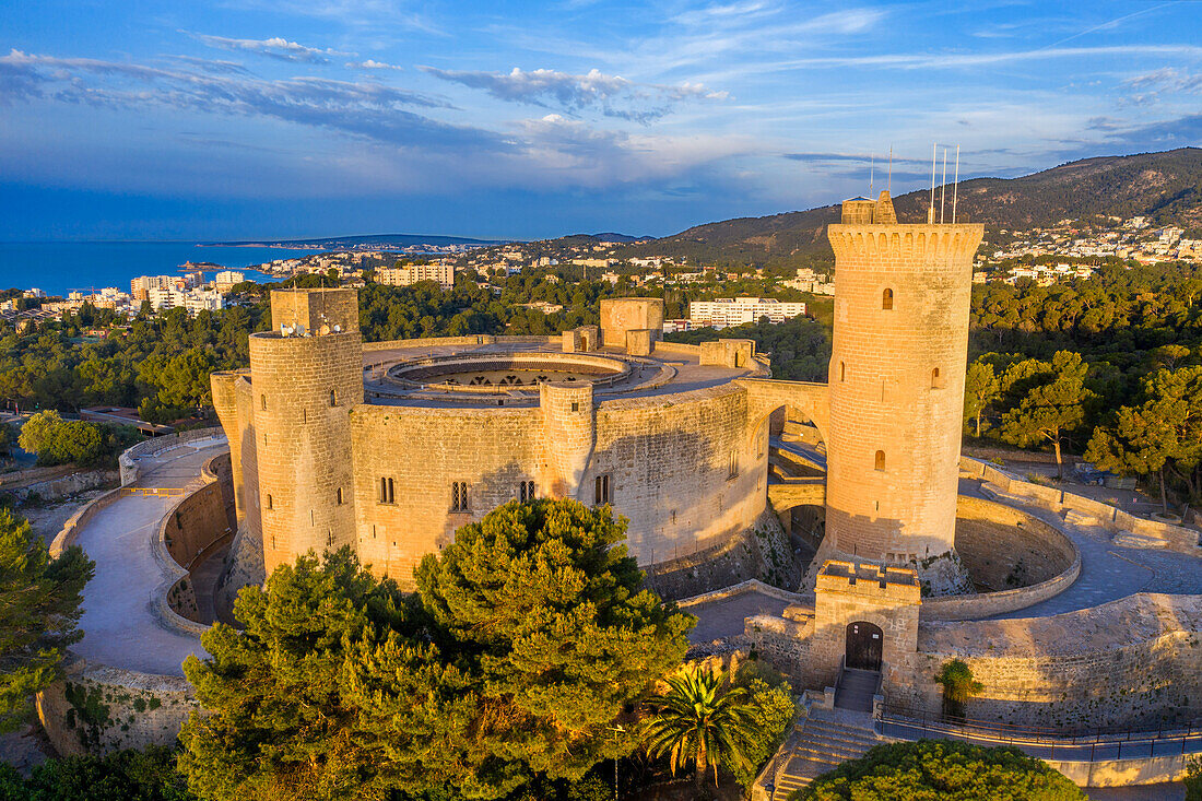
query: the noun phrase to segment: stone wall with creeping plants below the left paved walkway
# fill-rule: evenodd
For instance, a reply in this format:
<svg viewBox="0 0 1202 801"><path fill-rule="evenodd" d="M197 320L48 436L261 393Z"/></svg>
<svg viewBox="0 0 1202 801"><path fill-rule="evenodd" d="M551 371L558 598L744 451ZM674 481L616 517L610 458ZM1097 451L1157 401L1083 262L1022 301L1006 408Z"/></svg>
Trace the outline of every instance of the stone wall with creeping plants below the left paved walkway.
<svg viewBox="0 0 1202 801"><path fill-rule="evenodd" d="M185 678L138 674L76 659L37 695L37 717L61 755L173 746L197 707Z"/></svg>

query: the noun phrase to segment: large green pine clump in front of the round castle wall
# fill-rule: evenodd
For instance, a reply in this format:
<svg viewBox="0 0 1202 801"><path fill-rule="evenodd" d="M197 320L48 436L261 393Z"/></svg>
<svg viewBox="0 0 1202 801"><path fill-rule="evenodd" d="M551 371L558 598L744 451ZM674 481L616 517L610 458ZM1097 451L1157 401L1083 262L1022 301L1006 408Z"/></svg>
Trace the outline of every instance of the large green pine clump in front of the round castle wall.
<svg viewBox="0 0 1202 801"><path fill-rule="evenodd" d="M244 589L238 633L184 665L208 710L180 737L197 795L499 799L582 777L635 742L614 725L680 663L692 618L642 587L625 522L572 500L510 503L417 570L349 548Z"/></svg>

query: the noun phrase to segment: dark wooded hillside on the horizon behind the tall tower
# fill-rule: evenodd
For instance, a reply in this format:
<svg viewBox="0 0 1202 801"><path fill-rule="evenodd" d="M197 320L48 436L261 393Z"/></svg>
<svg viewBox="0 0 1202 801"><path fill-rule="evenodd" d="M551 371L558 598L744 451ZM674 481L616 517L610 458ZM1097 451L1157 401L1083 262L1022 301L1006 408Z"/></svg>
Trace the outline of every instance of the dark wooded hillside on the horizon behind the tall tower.
<svg viewBox="0 0 1202 801"><path fill-rule="evenodd" d="M895 197L898 215L903 221L924 220L928 198L927 190ZM632 244L621 255L745 263L826 261L831 249L823 231L838 215L839 207L826 206L709 222ZM1160 224L1202 226L1202 149L1084 159L1022 178L974 178L959 186L959 219L992 230L1046 227L1093 215L1144 215Z"/></svg>

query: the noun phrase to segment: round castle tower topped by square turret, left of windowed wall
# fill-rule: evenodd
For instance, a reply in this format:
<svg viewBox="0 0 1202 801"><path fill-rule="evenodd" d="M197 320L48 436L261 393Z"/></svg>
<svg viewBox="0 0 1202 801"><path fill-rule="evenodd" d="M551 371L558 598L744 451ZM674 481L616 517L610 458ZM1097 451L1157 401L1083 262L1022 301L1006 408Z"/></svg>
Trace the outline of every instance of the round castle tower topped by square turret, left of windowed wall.
<svg viewBox="0 0 1202 801"><path fill-rule="evenodd" d="M353 547L350 413L363 403L355 290L272 292L274 331L250 337L267 574L310 548Z"/></svg>

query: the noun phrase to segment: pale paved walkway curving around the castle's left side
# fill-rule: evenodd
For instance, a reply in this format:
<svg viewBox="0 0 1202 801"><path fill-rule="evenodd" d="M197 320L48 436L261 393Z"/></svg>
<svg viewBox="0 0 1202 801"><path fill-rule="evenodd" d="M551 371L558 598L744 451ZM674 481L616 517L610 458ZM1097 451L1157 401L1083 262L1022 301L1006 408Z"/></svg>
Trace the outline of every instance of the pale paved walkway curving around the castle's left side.
<svg viewBox="0 0 1202 801"><path fill-rule="evenodd" d="M143 487L183 487L225 440L180 446L161 458L139 462ZM119 498L79 533L78 544L96 562L96 577L84 588L84 631L72 651L89 661L143 672L183 676L188 654L207 657L198 637L161 624L150 606L151 592L166 575L151 556L159 521L174 498Z"/></svg>

